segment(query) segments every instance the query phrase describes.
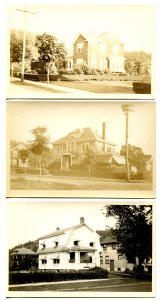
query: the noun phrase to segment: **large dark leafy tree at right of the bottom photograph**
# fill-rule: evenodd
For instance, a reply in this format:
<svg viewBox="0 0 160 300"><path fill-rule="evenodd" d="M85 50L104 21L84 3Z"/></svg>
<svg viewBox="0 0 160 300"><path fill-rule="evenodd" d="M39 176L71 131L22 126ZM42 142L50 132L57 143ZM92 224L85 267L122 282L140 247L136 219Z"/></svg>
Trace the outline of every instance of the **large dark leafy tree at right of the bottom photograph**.
<svg viewBox="0 0 160 300"><path fill-rule="evenodd" d="M115 217L114 235L128 262L152 257L152 205L106 205L104 214Z"/></svg>

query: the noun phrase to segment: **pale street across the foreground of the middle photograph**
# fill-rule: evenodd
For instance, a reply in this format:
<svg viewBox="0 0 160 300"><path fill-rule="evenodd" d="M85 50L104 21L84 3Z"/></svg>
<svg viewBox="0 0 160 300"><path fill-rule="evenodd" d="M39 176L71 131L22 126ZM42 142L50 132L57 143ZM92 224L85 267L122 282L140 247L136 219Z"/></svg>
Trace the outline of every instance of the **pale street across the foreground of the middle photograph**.
<svg viewBox="0 0 160 300"><path fill-rule="evenodd" d="M24 178L24 181L20 181L18 185L18 178L11 176L11 189L25 189L27 183L38 184L39 176L38 175L21 175L21 178ZM12 187L13 180L15 180L15 188ZM42 175L41 183L46 183L46 189L58 189L56 188L61 185L67 185L67 189L75 190L135 190L135 191L151 191L152 183L144 181L130 181L126 182L125 180L109 180L103 178L89 178L89 177L67 177L67 176L54 176L54 175ZM54 186L52 186L52 184ZM16 187L17 186L17 187ZM18 188L18 186L20 188ZM50 188L48 188L50 186ZM33 188L34 189L34 188ZM44 188L43 188L44 189ZM63 189L61 187L61 189ZM65 189L65 188L64 188Z"/></svg>

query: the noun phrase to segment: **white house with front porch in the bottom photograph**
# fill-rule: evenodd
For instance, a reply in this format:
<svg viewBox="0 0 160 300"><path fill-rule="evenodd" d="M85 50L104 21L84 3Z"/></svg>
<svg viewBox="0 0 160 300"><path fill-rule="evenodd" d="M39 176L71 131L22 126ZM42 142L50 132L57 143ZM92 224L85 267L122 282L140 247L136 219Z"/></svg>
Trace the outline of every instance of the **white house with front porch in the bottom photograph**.
<svg viewBox="0 0 160 300"><path fill-rule="evenodd" d="M100 236L85 224L83 217L78 225L40 237L40 270L81 270L100 266Z"/></svg>

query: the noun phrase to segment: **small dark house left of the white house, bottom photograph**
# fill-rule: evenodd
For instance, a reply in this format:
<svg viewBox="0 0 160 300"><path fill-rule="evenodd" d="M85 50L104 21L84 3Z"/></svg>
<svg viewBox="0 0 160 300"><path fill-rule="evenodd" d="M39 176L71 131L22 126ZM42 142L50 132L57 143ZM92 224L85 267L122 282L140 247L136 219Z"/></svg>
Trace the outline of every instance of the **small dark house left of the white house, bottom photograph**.
<svg viewBox="0 0 160 300"><path fill-rule="evenodd" d="M37 254L25 247L16 248L10 254L10 270L37 268Z"/></svg>

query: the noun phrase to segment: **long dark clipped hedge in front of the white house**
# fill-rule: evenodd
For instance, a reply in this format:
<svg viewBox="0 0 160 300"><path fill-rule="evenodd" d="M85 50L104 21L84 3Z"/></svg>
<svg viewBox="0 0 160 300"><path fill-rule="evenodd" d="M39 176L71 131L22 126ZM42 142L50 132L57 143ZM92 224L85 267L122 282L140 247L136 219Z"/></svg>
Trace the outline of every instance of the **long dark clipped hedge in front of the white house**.
<svg viewBox="0 0 160 300"><path fill-rule="evenodd" d="M37 282L69 281L83 279L107 278L108 271L101 268L93 268L80 271L32 271L32 272L13 272L9 274L9 284L25 284Z"/></svg>

